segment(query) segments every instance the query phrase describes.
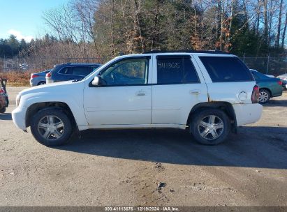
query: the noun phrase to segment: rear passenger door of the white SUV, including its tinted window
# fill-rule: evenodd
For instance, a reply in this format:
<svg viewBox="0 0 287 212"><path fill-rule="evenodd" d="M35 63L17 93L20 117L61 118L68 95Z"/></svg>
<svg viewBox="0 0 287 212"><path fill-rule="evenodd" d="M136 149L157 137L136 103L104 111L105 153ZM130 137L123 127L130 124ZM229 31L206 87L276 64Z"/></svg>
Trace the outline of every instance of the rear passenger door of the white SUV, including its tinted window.
<svg viewBox="0 0 287 212"><path fill-rule="evenodd" d="M189 54L154 55L152 123L186 125L191 108L207 101L207 87Z"/></svg>

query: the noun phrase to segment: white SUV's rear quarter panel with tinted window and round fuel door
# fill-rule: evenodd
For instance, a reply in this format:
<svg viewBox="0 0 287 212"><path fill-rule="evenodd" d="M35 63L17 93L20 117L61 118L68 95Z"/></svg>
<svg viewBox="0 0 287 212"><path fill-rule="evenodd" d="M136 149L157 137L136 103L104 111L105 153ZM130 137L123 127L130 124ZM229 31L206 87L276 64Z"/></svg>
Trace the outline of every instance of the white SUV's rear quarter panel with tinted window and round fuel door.
<svg viewBox="0 0 287 212"><path fill-rule="evenodd" d="M210 101L252 103L254 81L249 68L230 54L193 54L205 77Z"/></svg>

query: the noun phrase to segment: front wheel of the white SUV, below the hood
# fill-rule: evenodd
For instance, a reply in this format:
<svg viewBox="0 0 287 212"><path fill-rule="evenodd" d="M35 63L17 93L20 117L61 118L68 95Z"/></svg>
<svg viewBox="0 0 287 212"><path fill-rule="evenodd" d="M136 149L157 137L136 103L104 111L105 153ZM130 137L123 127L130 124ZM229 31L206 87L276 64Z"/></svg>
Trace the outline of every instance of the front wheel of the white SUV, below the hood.
<svg viewBox="0 0 287 212"><path fill-rule="evenodd" d="M51 116L52 123L50 124L50 121L48 120L50 120ZM44 123L45 121L46 123ZM54 121L56 123L54 123ZM45 128L38 126L40 123L47 126L46 130ZM63 127L57 128L56 125L58 124L59 126L59 123L61 123ZM45 136L46 131L49 131L50 135ZM31 120L31 132L35 139L45 146L61 146L68 143L70 140L73 126L71 120L63 110L56 107L49 107L41 109L33 116Z"/></svg>

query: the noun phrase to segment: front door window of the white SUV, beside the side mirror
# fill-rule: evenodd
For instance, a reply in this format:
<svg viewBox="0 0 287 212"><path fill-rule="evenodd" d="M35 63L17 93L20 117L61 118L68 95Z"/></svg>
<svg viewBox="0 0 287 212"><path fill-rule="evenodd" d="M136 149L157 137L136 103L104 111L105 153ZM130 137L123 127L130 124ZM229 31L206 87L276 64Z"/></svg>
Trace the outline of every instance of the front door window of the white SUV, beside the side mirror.
<svg viewBox="0 0 287 212"><path fill-rule="evenodd" d="M147 84L149 59L124 59L101 71L106 85Z"/></svg>

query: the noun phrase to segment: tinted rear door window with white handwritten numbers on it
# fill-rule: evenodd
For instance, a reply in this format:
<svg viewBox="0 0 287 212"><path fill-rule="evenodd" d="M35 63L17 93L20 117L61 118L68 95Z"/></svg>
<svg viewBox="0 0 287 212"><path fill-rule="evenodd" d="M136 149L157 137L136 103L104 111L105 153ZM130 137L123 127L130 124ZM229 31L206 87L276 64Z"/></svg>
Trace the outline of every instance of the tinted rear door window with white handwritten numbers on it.
<svg viewBox="0 0 287 212"><path fill-rule="evenodd" d="M156 56L158 84L198 83L190 56Z"/></svg>

